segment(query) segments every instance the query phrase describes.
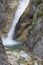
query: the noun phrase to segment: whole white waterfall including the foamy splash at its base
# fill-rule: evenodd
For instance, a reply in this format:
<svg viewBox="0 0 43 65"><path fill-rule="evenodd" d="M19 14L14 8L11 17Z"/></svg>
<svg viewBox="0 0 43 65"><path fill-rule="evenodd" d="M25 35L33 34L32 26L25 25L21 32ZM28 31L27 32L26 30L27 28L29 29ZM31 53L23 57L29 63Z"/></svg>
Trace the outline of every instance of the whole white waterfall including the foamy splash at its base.
<svg viewBox="0 0 43 65"><path fill-rule="evenodd" d="M8 33L8 37L6 39L2 38L4 46L12 46L12 45L18 44L15 40L13 40L15 27L16 27L21 15L25 11L26 7L28 6L29 1L30 0L20 0L19 1L19 5L18 5L18 8L17 8L15 16L14 16L12 27Z"/></svg>

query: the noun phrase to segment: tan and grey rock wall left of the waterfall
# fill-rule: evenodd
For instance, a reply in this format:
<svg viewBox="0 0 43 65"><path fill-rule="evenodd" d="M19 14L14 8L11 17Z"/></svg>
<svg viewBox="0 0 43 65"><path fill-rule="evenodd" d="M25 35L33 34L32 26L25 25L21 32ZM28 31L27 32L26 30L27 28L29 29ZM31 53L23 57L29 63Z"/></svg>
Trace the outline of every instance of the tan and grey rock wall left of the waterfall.
<svg viewBox="0 0 43 65"><path fill-rule="evenodd" d="M0 0L0 31L6 34L10 29L19 0Z"/></svg>

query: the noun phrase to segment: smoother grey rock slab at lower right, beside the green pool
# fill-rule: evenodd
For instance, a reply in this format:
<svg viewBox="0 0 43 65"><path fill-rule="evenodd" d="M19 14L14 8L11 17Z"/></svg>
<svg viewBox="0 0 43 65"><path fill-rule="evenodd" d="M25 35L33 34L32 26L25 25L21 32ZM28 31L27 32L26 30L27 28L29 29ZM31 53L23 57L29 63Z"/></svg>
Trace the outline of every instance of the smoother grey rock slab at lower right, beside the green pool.
<svg viewBox="0 0 43 65"><path fill-rule="evenodd" d="M43 20L39 19L33 29L28 30L26 46L43 58Z"/></svg>

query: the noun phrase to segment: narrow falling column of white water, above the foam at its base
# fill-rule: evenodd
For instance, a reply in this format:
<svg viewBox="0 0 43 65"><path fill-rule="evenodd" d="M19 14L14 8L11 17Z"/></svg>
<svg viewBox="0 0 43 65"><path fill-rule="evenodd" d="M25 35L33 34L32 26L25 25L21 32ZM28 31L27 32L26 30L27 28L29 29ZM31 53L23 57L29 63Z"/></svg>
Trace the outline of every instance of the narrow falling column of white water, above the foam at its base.
<svg viewBox="0 0 43 65"><path fill-rule="evenodd" d="M29 0L20 0L19 6L18 6L17 11L16 11L15 16L14 16L12 27L8 33L8 37L10 39L13 38L15 26L18 23L20 16L23 14L23 12L24 12L25 8L28 6L28 4L29 4Z"/></svg>

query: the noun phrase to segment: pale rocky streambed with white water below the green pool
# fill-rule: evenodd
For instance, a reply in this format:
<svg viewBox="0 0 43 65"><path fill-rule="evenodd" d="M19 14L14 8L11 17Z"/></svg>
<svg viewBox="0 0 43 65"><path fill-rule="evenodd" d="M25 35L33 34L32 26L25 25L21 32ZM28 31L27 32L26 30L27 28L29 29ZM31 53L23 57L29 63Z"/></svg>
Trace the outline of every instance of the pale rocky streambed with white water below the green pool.
<svg viewBox="0 0 43 65"><path fill-rule="evenodd" d="M11 65L43 65L43 60L31 52L25 52L23 48L12 50L6 50L8 62Z"/></svg>

